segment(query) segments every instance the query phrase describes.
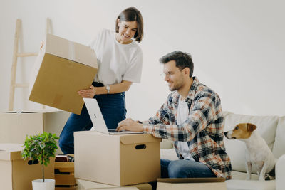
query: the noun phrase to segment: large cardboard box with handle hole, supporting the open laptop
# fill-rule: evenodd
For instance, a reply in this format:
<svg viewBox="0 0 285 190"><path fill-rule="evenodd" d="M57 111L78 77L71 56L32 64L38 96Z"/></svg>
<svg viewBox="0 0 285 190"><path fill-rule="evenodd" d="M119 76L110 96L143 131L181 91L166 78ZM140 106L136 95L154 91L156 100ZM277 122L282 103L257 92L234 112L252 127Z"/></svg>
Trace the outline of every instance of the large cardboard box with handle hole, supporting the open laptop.
<svg viewBox="0 0 285 190"><path fill-rule="evenodd" d="M114 186L156 181L160 141L150 134L74 132L75 177Z"/></svg>

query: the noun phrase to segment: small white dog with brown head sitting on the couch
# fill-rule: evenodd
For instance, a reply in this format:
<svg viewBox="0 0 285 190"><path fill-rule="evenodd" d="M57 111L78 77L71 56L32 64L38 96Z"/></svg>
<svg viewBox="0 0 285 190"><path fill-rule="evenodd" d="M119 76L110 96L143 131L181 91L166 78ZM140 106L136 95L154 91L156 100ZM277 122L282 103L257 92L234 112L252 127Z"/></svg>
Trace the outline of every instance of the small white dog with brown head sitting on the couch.
<svg viewBox="0 0 285 190"><path fill-rule="evenodd" d="M252 176L252 164L257 167L259 181L275 179L276 158L265 140L254 130L257 126L251 123L240 123L234 130L224 132L228 139L239 139L246 144L247 180Z"/></svg>

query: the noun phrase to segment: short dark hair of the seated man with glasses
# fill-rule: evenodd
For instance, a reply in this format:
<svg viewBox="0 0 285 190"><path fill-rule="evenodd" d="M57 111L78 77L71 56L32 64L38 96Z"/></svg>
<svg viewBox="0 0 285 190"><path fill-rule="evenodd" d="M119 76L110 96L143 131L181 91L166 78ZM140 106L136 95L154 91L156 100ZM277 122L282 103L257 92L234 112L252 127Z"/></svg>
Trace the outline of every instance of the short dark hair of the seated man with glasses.
<svg viewBox="0 0 285 190"><path fill-rule="evenodd" d="M190 78L193 75L194 64L192 62L192 57L190 53L182 52L182 51L173 51L171 53L167 53L165 56L160 58L160 63L165 64L170 62L170 60L175 60L176 67L180 70L184 68L190 69Z"/></svg>

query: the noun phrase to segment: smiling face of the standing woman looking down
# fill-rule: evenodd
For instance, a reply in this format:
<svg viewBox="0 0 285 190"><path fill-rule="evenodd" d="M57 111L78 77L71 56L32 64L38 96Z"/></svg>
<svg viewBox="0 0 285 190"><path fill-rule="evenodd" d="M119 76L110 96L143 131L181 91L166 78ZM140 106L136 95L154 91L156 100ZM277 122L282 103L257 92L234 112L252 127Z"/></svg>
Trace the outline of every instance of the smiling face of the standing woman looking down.
<svg viewBox="0 0 285 190"><path fill-rule="evenodd" d="M133 36L137 32L137 21L120 21L118 19L119 33L117 41L120 43L131 43Z"/></svg>

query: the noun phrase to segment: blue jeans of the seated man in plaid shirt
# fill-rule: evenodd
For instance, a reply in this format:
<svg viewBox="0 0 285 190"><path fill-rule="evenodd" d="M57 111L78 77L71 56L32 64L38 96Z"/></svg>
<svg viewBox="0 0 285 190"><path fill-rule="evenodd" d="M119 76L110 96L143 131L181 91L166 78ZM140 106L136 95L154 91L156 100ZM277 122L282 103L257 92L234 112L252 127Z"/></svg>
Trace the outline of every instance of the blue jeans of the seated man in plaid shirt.
<svg viewBox="0 0 285 190"><path fill-rule="evenodd" d="M217 177L209 167L190 159L160 159L162 178Z"/></svg>

